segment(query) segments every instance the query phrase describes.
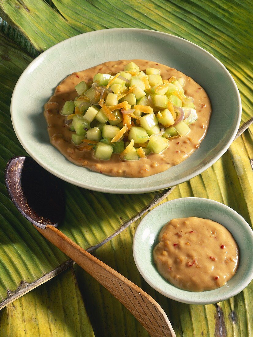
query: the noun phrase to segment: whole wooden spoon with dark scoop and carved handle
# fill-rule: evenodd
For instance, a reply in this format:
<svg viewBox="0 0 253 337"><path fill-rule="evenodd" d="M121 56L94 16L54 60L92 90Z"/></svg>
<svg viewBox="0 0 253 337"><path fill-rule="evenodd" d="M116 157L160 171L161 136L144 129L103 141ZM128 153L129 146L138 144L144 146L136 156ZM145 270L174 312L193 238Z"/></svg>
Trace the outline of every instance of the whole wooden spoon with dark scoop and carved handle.
<svg viewBox="0 0 253 337"><path fill-rule="evenodd" d="M59 179L30 157L14 157L6 166L5 184L14 205L37 231L101 283L151 336L176 337L165 312L151 296L56 228L65 209Z"/></svg>

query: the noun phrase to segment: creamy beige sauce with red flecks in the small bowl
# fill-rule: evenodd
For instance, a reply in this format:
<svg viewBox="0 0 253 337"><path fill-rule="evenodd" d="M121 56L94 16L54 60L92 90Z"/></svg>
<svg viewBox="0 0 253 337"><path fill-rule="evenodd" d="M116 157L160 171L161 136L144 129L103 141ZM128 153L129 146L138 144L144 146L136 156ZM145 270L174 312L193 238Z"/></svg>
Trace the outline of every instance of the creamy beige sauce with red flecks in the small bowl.
<svg viewBox="0 0 253 337"><path fill-rule="evenodd" d="M201 292L223 286L235 274L239 248L218 222L189 217L162 228L153 258L159 273L178 288Z"/></svg>

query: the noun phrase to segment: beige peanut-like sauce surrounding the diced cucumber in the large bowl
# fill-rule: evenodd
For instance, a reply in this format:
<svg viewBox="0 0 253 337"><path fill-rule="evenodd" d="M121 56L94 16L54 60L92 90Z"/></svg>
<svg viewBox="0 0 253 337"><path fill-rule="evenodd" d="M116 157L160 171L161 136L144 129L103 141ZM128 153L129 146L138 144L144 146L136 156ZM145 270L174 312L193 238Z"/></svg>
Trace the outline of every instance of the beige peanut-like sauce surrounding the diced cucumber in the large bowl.
<svg viewBox="0 0 253 337"><path fill-rule="evenodd" d="M193 97L198 119L189 127L191 131L179 138L169 141L169 146L162 153L150 153L147 158L139 160L121 160L116 153L110 160L98 160L93 157L94 150L78 151L78 147L71 141L72 132L65 124L65 117L61 115L63 105L76 97L75 86L81 81L90 82L97 73L122 71L129 60L110 61L93 68L74 72L64 79L56 88L54 95L45 104L44 116L48 123L50 141L68 160L76 165L88 167L90 170L115 177L139 178L147 177L167 170L189 157L203 140L209 125L211 104L207 93L202 87L182 72L153 61L132 60L140 70L159 68L162 79L171 76L185 79L185 94Z"/></svg>

